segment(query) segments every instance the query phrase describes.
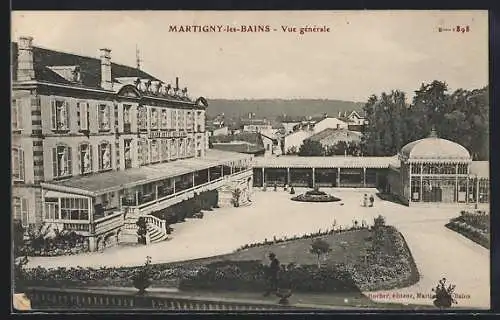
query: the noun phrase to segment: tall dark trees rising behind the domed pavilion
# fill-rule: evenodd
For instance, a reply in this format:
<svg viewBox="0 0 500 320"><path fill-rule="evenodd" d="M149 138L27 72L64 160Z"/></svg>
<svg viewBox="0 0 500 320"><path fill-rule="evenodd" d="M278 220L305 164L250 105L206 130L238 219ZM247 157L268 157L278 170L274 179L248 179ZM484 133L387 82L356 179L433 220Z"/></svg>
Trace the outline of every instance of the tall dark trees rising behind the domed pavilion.
<svg viewBox="0 0 500 320"><path fill-rule="evenodd" d="M448 92L445 82L423 83L412 103L399 90L372 95L364 106L368 124L361 144L363 155L391 156L405 144L429 135L463 145L474 160L489 158L489 90Z"/></svg>

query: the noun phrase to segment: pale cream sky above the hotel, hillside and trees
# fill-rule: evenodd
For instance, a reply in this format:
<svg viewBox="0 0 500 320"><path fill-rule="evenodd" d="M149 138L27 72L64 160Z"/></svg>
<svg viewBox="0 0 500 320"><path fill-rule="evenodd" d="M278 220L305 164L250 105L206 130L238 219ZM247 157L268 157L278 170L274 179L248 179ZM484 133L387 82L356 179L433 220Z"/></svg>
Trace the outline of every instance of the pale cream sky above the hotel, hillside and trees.
<svg viewBox="0 0 500 320"><path fill-rule="evenodd" d="M180 26L222 32L173 32ZM270 32L225 32L226 26ZM282 27L329 32L283 32ZM444 31L467 27L469 32ZM35 46L136 65L191 96L338 99L364 102L422 82L450 90L488 84L487 11L17 11L11 36Z"/></svg>

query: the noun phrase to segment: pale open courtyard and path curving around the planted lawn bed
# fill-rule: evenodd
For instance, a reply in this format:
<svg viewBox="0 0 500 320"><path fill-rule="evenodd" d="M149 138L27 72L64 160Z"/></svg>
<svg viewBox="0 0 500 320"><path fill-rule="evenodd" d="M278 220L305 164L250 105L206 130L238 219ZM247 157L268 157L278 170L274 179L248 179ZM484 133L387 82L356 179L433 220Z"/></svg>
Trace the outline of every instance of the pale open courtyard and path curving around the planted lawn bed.
<svg viewBox="0 0 500 320"><path fill-rule="evenodd" d="M456 285L460 307L489 308L489 251L444 224L458 215L450 207L414 208L376 199L375 207L361 206L363 193L375 189L322 189L342 199L333 203L300 203L281 191L257 191L251 206L220 208L206 212L201 220L190 219L173 225L172 240L145 247L116 247L101 253L64 257L31 258L29 267L44 266L132 266L151 256L153 263L173 262L230 253L236 248L273 236L301 235L337 225L350 226L353 220L373 223L378 214L404 235L421 274L411 287L367 293L375 301L431 304L427 297L439 279ZM297 193L304 191L297 189ZM343 204L343 205L342 205ZM265 257L262 257L265 259Z"/></svg>

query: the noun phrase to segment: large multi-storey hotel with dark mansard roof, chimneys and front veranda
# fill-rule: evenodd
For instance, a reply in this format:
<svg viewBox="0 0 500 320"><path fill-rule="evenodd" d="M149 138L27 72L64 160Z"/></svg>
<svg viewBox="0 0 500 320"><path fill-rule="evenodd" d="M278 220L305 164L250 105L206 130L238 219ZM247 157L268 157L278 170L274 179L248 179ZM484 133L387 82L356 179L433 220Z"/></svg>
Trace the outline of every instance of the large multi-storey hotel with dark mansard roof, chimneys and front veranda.
<svg viewBox="0 0 500 320"><path fill-rule="evenodd" d="M91 250L133 235L139 216L206 191L251 194L251 157L208 150L207 101L138 68L12 44L13 219L88 237ZM133 238L133 237L132 237Z"/></svg>

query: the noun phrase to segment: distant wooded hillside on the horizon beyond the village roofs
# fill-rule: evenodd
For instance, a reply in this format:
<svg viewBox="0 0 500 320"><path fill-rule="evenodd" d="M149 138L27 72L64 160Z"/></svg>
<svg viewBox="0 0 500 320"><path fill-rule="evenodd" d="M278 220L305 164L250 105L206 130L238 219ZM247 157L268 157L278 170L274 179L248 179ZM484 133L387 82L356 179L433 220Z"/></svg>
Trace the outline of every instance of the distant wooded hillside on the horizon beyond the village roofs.
<svg viewBox="0 0 500 320"><path fill-rule="evenodd" d="M207 116L213 118L224 113L228 118L247 117L249 112L255 113L257 118L275 119L287 114L291 117L320 116L327 113L329 116L338 116L339 112L361 111L364 103L340 100L320 99L258 99L258 100L226 100L208 99Z"/></svg>

